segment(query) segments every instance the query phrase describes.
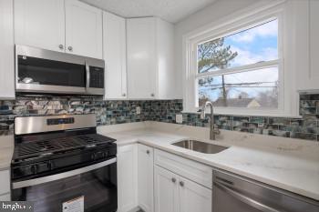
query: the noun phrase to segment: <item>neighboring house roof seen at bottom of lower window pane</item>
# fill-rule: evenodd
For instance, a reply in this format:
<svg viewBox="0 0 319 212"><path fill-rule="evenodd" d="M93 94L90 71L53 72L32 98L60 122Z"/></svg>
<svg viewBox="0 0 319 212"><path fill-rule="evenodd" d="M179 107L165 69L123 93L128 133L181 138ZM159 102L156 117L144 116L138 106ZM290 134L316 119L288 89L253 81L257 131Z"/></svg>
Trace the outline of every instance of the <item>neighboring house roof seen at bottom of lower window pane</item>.
<svg viewBox="0 0 319 212"><path fill-rule="evenodd" d="M261 105L254 98L230 98L227 99L227 106L231 107L260 107ZM224 106L223 98L218 98L213 106Z"/></svg>

